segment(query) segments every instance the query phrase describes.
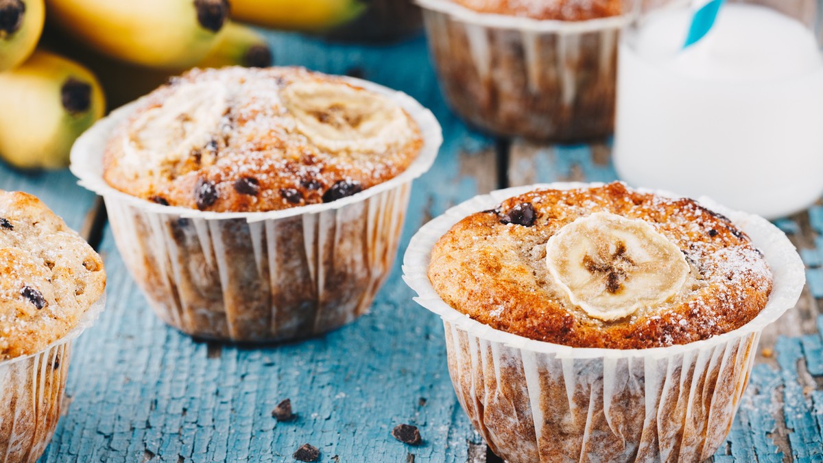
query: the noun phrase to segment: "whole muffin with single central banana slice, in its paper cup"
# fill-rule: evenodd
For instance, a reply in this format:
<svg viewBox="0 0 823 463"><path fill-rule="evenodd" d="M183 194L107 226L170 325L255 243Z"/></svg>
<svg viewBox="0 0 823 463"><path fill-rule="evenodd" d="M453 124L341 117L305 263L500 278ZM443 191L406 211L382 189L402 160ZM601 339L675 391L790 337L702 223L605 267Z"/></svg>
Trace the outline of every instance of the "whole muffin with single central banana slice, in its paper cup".
<svg viewBox="0 0 823 463"><path fill-rule="evenodd" d="M509 188L412 238L463 409L506 461L703 461L797 252L754 215L622 183Z"/></svg>

